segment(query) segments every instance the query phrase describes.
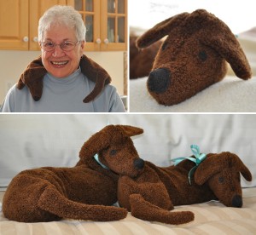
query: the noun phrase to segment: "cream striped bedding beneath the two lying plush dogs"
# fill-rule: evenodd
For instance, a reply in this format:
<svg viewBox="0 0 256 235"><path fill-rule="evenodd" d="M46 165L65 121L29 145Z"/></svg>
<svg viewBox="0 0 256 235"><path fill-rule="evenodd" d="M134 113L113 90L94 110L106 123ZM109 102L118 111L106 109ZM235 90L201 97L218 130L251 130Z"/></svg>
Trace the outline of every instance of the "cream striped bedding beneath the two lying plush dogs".
<svg viewBox="0 0 256 235"><path fill-rule="evenodd" d="M0 192L2 202L3 193ZM142 221L130 213L122 221L94 222L62 220L48 223L19 223L0 216L1 235L79 235L79 234L255 234L256 233L256 187L243 189L243 207L230 208L211 201L175 210L191 210L195 221L172 226L158 222Z"/></svg>

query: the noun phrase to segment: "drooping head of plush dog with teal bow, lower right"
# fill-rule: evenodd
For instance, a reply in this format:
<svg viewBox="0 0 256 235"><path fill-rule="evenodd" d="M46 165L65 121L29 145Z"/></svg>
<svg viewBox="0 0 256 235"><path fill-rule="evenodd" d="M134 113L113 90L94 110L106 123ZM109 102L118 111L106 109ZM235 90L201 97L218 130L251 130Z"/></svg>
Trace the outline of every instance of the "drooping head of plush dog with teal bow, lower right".
<svg viewBox="0 0 256 235"><path fill-rule="evenodd" d="M247 181L252 181L251 172L236 154L209 154L195 170L195 183L207 183L225 206L241 207L240 173Z"/></svg>

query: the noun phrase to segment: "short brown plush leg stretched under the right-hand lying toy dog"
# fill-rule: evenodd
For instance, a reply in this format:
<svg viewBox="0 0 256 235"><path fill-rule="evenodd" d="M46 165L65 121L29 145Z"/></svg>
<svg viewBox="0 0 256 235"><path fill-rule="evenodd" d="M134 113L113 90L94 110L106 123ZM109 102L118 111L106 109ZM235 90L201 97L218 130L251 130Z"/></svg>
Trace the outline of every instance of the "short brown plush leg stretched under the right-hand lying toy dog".
<svg viewBox="0 0 256 235"><path fill-rule="evenodd" d="M148 203L140 194L130 195L131 215L144 221L158 221L166 224L179 225L194 221L194 213L190 211L170 212Z"/></svg>

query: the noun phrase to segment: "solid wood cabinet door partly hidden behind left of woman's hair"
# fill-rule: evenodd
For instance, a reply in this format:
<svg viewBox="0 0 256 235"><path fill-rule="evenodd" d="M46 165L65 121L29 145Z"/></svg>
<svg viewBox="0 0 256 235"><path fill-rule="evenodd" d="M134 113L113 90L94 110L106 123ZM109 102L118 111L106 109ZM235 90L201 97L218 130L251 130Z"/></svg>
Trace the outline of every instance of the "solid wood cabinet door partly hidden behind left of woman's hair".
<svg viewBox="0 0 256 235"><path fill-rule="evenodd" d="M38 20L44 14L45 10L54 5L66 5L66 0L32 0L29 3L30 7L30 36L29 49L40 50L38 45Z"/></svg>

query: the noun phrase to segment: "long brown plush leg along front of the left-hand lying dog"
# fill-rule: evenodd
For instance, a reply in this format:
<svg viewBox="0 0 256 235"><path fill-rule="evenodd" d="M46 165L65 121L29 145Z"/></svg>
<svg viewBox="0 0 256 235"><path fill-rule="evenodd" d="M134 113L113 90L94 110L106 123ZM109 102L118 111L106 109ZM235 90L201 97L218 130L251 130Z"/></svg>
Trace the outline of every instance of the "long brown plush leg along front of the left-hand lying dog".
<svg viewBox="0 0 256 235"><path fill-rule="evenodd" d="M73 202L61 195L54 186L44 189L38 207L61 218L84 221L118 221L127 215L126 209L122 208Z"/></svg>

